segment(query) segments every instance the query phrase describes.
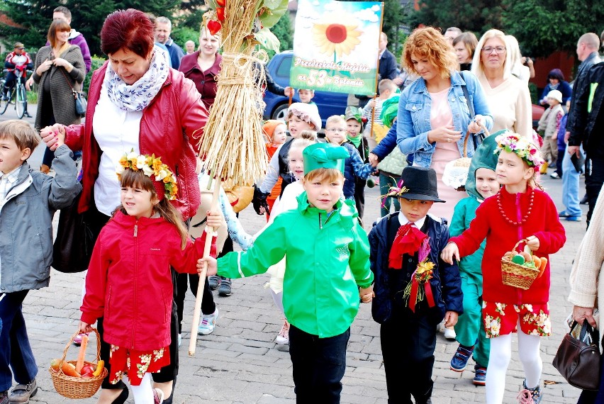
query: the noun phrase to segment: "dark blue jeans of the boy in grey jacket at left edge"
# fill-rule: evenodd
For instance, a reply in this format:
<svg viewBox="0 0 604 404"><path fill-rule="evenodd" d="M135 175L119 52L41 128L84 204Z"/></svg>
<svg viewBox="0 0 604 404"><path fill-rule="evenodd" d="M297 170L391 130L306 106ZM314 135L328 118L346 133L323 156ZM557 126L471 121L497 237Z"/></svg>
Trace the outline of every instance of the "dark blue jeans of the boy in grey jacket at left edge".
<svg viewBox="0 0 604 404"><path fill-rule="evenodd" d="M27 384L38 374L21 311L28 292L0 295L0 391L11 388L13 376L17 383Z"/></svg>

